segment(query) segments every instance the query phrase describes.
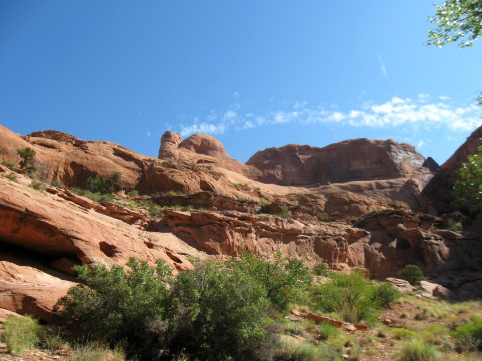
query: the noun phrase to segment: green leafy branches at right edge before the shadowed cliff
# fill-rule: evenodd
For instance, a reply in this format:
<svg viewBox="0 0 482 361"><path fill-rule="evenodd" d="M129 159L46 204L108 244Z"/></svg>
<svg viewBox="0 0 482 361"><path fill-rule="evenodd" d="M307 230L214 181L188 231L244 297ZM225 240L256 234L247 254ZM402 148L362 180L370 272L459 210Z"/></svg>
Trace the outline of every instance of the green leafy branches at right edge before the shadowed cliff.
<svg viewBox="0 0 482 361"><path fill-rule="evenodd" d="M471 204L470 210L482 218L482 147L477 153L469 155L467 162L457 171L458 179L454 184L455 202Z"/></svg>

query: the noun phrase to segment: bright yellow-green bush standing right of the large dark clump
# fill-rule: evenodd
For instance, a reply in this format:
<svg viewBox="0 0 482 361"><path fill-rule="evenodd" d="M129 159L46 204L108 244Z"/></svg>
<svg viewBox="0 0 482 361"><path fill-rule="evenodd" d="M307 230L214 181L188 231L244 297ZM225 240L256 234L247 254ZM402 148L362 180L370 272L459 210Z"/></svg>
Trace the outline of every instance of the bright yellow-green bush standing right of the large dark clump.
<svg viewBox="0 0 482 361"><path fill-rule="evenodd" d="M347 322L376 319L380 309L374 297L375 287L362 272L333 273L332 281L313 290L315 302L324 312L338 312Z"/></svg>

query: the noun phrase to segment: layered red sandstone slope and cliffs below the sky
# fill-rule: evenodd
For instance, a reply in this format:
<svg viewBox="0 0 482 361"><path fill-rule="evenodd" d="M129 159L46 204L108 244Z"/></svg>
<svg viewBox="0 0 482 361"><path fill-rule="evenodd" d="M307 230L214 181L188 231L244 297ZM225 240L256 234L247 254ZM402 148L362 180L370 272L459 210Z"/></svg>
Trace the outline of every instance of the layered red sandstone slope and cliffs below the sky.
<svg viewBox="0 0 482 361"><path fill-rule="evenodd" d="M75 282L73 265L124 264L131 256L185 270L189 257L281 249L310 266L356 267L379 278L406 264L437 274L482 266L480 225L460 214L436 217L440 201L426 192L431 177L445 179L463 154L439 171L408 144L355 139L270 148L243 164L215 138L183 141L166 132L157 159L58 131L25 137L0 126L0 160L18 163L16 150L27 146L47 183L79 187L88 176L121 171L124 191L161 192L150 201L166 209L151 218L135 205L98 204L65 188L35 190L19 169L0 166L0 175L16 178L0 177L0 304L11 312L49 321ZM180 206L186 210L173 208ZM453 224L460 230L446 230Z"/></svg>

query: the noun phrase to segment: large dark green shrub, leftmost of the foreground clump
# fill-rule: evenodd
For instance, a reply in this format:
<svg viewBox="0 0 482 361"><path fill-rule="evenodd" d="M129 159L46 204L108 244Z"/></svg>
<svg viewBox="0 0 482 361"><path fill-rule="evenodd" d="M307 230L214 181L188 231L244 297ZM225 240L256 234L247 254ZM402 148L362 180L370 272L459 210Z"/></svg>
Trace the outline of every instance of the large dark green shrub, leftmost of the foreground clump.
<svg viewBox="0 0 482 361"><path fill-rule="evenodd" d="M171 269L130 258L121 266L75 266L85 285L71 287L55 307L72 335L91 335L111 345L125 342L131 355L157 356L164 343L164 307ZM152 352L156 352L155 355Z"/></svg>

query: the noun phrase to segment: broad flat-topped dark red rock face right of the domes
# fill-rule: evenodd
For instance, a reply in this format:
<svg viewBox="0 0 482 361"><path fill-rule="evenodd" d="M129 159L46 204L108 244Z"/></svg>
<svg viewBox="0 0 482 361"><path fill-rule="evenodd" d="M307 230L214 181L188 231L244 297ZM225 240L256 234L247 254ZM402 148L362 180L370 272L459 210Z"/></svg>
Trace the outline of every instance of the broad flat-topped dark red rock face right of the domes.
<svg viewBox="0 0 482 361"><path fill-rule="evenodd" d="M429 172L413 146L394 140L345 140L323 148L289 144L257 152L246 164L259 182L303 186L391 179Z"/></svg>

